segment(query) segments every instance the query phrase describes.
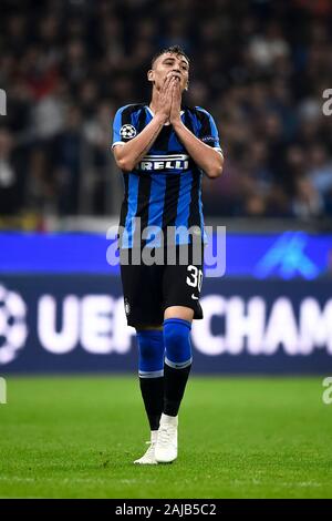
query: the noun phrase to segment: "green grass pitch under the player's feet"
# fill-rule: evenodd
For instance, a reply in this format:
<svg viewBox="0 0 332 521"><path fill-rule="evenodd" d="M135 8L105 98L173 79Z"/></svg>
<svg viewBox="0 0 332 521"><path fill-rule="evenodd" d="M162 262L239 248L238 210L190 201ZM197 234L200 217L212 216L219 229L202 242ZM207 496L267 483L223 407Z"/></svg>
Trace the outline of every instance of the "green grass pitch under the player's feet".
<svg viewBox="0 0 332 521"><path fill-rule="evenodd" d="M322 378L191 377L179 458L137 467L148 428L136 378L7 379L1 498L331 498Z"/></svg>

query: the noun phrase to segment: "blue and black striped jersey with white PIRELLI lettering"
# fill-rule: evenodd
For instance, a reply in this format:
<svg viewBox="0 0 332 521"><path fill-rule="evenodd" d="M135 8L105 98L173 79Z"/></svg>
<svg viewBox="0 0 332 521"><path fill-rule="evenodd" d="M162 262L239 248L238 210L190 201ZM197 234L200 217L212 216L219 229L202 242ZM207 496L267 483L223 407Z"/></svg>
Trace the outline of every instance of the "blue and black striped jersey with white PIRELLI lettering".
<svg viewBox="0 0 332 521"><path fill-rule="evenodd" d="M112 147L135 137L152 118L145 104L121 108L114 119ZM207 111L184 106L181 120L199 140L221 152L215 121ZM152 226L166 236L168 227L185 227L194 228L204 238L201 176L203 171L190 159L173 126L165 124L145 157L132 172L123 173L125 193L120 225L126 233L121 246L131 248L141 239L139 235L136 237L135 217L141 218L141 233ZM158 241L151 236L145 244L157 246ZM187 242L190 242L187 234L176 235L175 244Z"/></svg>

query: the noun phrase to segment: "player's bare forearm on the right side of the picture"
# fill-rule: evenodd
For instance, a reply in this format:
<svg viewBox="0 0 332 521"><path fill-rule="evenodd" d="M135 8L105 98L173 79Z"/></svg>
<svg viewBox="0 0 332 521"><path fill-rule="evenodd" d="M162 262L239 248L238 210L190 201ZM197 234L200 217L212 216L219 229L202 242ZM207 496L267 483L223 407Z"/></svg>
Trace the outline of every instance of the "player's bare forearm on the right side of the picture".
<svg viewBox="0 0 332 521"><path fill-rule="evenodd" d="M187 149L188 154L195 163L208 177L219 177L222 173L222 154L199 141L181 121L173 124L173 126L178 139Z"/></svg>

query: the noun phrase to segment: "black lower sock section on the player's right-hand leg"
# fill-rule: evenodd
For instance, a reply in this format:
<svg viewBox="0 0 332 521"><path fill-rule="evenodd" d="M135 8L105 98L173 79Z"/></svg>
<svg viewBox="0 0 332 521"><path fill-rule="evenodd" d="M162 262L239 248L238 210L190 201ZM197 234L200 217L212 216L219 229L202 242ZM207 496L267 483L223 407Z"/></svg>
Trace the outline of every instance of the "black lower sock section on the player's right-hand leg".
<svg viewBox="0 0 332 521"><path fill-rule="evenodd" d="M185 394L186 384L191 369L190 366L184 369L174 369L164 366L164 412L168 416L177 416L181 399Z"/></svg>

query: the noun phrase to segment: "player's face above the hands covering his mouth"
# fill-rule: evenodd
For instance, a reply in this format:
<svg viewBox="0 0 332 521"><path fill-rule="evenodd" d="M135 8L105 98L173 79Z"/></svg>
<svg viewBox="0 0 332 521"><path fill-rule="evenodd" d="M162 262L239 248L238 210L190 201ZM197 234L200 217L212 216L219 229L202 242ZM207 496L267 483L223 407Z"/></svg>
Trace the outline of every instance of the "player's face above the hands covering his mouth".
<svg viewBox="0 0 332 521"><path fill-rule="evenodd" d="M153 69L149 71L148 79L154 82L157 90L160 90L165 78L168 75L178 78L181 91L188 85L189 79L189 63L185 57L166 52L157 58L154 62Z"/></svg>

